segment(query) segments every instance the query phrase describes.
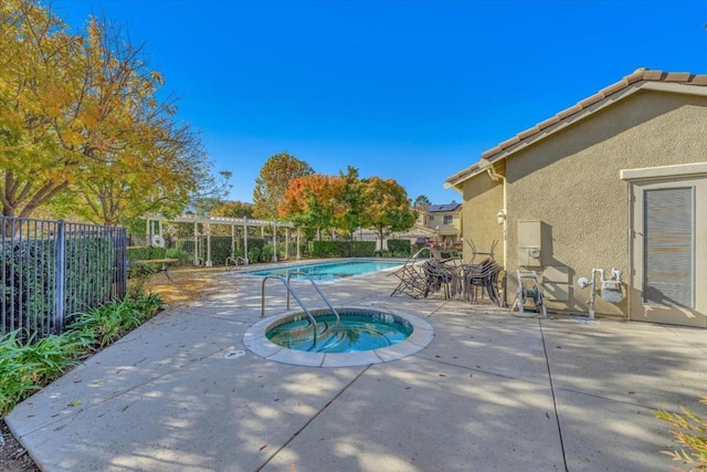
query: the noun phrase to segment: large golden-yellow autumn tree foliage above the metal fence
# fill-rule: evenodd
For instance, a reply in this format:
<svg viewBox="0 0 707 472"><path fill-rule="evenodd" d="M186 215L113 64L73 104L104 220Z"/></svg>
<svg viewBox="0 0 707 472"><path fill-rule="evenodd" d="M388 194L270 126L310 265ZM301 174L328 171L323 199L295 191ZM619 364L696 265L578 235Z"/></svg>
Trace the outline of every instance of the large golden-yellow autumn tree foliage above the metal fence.
<svg viewBox="0 0 707 472"><path fill-rule="evenodd" d="M176 122L175 101L158 98L161 74L119 29L93 18L71 34L25 0L3 2L0 25L2 214L53 203L117 224L223 190L198 136Z"/></svg>

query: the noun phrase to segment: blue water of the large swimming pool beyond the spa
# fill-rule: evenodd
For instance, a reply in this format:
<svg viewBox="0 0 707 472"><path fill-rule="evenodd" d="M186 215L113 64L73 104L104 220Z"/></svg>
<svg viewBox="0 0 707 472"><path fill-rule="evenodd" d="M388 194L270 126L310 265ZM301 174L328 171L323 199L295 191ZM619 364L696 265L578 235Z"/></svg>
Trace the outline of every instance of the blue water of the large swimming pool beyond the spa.
<svg viewBox="0 0 707 472"><path fill-rule="evenodd" d="M398 261L378 261L378 260L342 260L335 262L317 262L313 264L288 265L286 268L268 269L263 271L247 272L249 275L266 276L279 275L287 277L292 272L304 272L315 281L333 281L351 275L367 274L378 272L386 269L392 269L402 265ZM299 275L293 275L293 280L304 279Z"/></svg>

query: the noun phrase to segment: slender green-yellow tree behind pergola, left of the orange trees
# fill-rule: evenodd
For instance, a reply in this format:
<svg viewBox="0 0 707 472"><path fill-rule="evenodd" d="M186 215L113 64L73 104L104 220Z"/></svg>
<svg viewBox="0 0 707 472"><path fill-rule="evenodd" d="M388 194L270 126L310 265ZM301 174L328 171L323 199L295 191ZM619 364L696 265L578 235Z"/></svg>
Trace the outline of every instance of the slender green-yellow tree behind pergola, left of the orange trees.
<svg viewBox="0 0 707 472"><path fill-rule="evenodd" d="M275 219L289 182L297 177L310 176L314 170L304 160L287 153L271 156L255 179L253 190L253 216Z"/></svg>

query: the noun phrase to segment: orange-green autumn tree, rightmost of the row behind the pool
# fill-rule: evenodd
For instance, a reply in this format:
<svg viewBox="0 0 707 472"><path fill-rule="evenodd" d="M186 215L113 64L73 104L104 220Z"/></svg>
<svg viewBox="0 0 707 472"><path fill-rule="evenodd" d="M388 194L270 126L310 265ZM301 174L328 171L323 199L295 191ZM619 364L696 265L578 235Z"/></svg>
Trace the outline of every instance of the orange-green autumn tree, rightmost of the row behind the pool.
<svg viewBox="0 0 707 472"><path fill-rule="evenodd" d="M362 227L374 230L381 242L393 231L405 231L415 222L405 189L393 179L371 177L362 181Z"/></svg>

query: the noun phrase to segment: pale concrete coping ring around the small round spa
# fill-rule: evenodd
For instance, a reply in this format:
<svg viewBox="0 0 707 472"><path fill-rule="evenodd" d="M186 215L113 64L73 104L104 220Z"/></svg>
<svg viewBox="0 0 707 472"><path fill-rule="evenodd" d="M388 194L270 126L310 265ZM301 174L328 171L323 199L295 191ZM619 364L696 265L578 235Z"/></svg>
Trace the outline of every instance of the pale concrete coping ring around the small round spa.
<svg viewBox="0 0 707 472"><path fill-rule="evenodd" d="M371 310L370 306L341 307L341 310L346 308ZM261 319L245 331L243 344L256 356L282 364L306 367L360 367L402 359L424 349L434 339L434 328L430 323L418 316L398 312L386 313L392 313L410 323L413 328L412 334L398 344L372 350L358 353L304 353L278 346L265 336L267 328L272 324L297 313L302 313L302 311L293 310Z"/></svg>

